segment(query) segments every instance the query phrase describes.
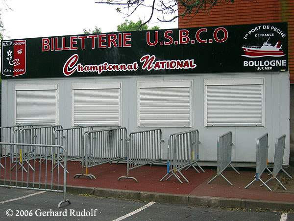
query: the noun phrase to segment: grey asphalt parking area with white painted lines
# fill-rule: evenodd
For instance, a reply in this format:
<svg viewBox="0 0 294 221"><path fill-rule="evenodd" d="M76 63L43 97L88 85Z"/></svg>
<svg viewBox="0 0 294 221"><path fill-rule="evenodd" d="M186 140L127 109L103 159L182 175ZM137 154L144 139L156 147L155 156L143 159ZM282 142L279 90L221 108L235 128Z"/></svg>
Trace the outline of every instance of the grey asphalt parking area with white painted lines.
<svg viewBox="0 0 294 221"><path fill-rule="evenodd" d="M60 193L39 193L23 189L9 189L0 187L0 220L3 221L32 221L32 220L95 220L113 221L138 220L138 221L294 221L294 214L288 213L284 219L281 212L229 210L209 207L192 207L187 205L167 204L158 202L130 201L110 198L96 198L68 194L72 204L57 209L58 202L62 199ZM35 194L26 197L27 195ZM26 198L24 198L26 197ZM138 210L139 209L139 210ZM63 212L61 217L44 217L42 212ZM71 211L92 212L90 217L71 217ZM31 217L29 212L31 211ZM95 213L96 211L96 213ZM13 215L8 217L8 215ZM137 213L136 213L137 212ZM65 214L67 213L67 214ZM19 215L20 217L16 217ZM21 217L27 215L27 217ZM41 217L38 217L40 216ZM91 214L90 214L91 215ZM96 216L95 216L96 215ZM126 216L125 216L126 215ZM284 215L285 216L285 215Z"/></svg>

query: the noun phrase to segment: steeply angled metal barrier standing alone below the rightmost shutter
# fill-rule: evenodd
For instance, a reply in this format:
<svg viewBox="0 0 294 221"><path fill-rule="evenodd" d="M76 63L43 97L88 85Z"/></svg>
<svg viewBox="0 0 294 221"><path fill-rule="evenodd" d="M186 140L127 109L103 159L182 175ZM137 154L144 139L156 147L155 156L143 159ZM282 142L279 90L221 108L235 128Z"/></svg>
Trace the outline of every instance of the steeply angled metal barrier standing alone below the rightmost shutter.
<svg viewBox="0 0 294 221"><path fill-rule="evenodd" d="M218 138L218 169L217 175L215 175L207 184L210 184L215 178L221 175L223 179L225 179L230 185L233 185L224 175L222 172L228 167L231 166L236 173L240 174L234 166L231 165L232 163L232 132L229 131L226 134L221 135Z"/></svg>

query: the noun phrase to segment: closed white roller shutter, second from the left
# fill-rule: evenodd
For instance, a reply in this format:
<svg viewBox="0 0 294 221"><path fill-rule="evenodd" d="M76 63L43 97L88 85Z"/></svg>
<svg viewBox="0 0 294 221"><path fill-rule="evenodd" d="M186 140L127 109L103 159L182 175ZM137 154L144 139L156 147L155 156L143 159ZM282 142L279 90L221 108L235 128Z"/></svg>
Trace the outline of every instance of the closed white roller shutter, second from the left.
<svg viewBox="0 0 294 221"><path fill-rule="evenodd" d="M121 126L121 84L73 84L73 126Z"/></svg>

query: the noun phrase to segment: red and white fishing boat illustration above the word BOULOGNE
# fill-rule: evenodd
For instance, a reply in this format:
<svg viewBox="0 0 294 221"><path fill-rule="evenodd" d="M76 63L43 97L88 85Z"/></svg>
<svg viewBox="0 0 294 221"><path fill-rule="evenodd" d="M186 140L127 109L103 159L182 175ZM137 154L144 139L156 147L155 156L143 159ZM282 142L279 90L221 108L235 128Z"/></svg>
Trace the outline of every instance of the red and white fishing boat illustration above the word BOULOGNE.
<svg viewBox="0 0 294 221"><path fill-rule="evenodd" d="M268 43L270 38L263 43L263 46L248 46L244 45L242 46L245 55L245 57L264 57L264 56L271 56L271 57L281 57L284 56L284 52L282 49L281 42L278 41L275 46L272 46L272 44Z"/></svg>

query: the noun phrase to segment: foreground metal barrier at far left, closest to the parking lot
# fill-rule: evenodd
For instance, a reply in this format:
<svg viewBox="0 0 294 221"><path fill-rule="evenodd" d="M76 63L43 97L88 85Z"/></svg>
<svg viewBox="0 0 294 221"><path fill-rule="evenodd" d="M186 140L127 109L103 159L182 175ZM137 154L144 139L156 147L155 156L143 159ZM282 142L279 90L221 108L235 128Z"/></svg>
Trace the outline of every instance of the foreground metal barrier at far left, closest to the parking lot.
<svg viewBox="0 0 294 221"><path fill-rule="evenodd" d="M9 152L13 151L18 153L16 157L22 162L24 153L20 150L25 147L32 148L31 155L34 160L31 160L30 163L35 170L30 172L27 166L27 170L25 171L24 166L19 167L18 165L16 165L15 171L11 170L12 161L10 158L15 156L12 156ZM4 152L1 163L3 163L5 167L5 169L0 167L0 187L63 193L63 200L59 202L58 208L65 202L68 204L71 203L70 200L66 199L66 150L62 146L0 142L0 148L2 148ZM51 154L45 155L45 161L41 163L43 160L42 155L37 154L37 152ZM55 154L62 154L64 156L64 169L58 166L56 170L52 170L54 164L53 161L49 161L48 158L52 158ZM26 172L26 174L24 174L24 172Z"/></svg>

